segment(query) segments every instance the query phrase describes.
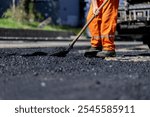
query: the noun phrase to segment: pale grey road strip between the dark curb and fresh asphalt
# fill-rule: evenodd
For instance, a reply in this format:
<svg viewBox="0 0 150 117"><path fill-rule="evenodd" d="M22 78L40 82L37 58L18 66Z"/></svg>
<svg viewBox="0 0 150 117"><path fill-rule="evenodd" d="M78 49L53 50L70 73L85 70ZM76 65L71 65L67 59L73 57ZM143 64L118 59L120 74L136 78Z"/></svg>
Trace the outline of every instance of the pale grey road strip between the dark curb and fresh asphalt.
<svg viewBox="0 0 150 117"><path fill-rule="evenodd" d="M40 47L67 47L72 40L55 41L0 41L0 48L40 48ZM142 45L143 42L116 41L116 45ZM79 40L75 46L90 46L90 40Z"/></svg>

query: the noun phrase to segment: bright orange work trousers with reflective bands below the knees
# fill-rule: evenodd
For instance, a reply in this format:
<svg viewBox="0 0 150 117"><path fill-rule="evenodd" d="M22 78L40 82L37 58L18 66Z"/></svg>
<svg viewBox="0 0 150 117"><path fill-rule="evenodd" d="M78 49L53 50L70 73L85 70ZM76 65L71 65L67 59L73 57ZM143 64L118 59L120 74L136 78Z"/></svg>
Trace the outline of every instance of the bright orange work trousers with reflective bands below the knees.
<svg viewBox="0 0 150 117"><path fill-rule="evenodd" d="M98 6L104 0L97 0ZM100 13L89 24L88 28L91 33L91 46L102 46L103 50L115 50L114 38L117 25L119 0L108 0L101 9ZM93 15L93 6L91 4L87 20Z"/></svg>

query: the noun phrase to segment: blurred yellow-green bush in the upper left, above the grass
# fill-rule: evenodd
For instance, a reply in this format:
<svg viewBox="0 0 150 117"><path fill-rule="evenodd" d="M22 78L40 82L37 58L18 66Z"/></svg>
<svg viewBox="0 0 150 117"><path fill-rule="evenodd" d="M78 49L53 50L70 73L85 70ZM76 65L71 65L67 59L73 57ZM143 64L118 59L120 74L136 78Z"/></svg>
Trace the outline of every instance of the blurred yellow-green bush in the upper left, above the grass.
<svg viewBox="0 0 150 117"><path fill-rule="evenodd" d="M5 18L11 18L18 22L33 22L37 16L34 0L19 0L15 5L15 0L12 0L13 5L4 13Z"/></svg>

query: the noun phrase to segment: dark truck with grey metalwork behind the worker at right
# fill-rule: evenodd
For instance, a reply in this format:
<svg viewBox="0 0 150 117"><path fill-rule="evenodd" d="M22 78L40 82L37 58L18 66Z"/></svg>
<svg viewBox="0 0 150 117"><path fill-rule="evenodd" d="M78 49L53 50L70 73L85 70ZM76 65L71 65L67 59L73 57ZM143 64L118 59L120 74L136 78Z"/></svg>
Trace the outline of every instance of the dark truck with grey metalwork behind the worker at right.
<svg viewBox="0 0 150 117"><path fill-rule="evenodd" d="M140 39L150 47L150 0L122 0L117 35L130 40Z"/></svg>

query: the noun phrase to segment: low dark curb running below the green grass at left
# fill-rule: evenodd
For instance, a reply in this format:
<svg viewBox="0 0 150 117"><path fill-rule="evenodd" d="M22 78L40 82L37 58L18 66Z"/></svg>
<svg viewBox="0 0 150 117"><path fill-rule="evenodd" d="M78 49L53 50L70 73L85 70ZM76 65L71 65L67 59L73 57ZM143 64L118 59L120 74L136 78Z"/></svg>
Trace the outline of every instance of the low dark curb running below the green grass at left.
<svg viewBox="0 0 150 117"><path fill-rule="evenodd" d="M0 40L51 40L70 38L73 32L0 28Z"/></svg>

